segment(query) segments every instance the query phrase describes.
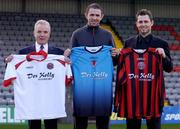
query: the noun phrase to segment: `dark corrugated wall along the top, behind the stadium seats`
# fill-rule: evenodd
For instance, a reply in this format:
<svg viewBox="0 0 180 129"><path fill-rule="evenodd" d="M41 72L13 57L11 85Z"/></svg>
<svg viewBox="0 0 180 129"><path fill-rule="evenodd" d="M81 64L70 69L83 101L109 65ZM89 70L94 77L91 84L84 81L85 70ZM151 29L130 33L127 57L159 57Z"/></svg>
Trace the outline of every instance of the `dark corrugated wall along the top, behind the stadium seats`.
<svg viewBox="0 0 180 129"><path fill-rule="evenodd" d="M94 1L110 16L134 16L147 8L155 17L180 18L180 0L0 0L0 12L83 14Z"/></svg>

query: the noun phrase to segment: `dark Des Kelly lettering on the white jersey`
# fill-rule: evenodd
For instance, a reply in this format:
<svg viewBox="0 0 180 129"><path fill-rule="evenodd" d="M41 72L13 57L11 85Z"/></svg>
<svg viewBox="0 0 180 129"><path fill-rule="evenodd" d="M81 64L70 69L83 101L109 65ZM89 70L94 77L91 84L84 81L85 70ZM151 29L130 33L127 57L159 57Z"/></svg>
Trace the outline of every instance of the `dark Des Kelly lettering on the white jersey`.
<svg viewBox="0 0 180 129"><path fill-rule="evenodd" d="M27 78L28 79L38 79L38 80L52 80L54 78L54 74L51 72L45 73L45 72L41 72L39 74L33 74L33 73L29 73L27 74Z"/></svg>

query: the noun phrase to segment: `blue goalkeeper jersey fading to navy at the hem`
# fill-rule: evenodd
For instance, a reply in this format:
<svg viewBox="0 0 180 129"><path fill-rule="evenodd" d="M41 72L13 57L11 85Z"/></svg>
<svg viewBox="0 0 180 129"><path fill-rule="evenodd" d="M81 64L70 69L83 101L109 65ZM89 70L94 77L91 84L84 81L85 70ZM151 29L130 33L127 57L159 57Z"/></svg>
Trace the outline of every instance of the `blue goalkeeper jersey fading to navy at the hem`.
<svg viewBox="0 0 180 129"><path fill-rule="evenodd" d="M100 46L72 49L75 116L111 114L113 82L111 48L111 46Z"/></svg>

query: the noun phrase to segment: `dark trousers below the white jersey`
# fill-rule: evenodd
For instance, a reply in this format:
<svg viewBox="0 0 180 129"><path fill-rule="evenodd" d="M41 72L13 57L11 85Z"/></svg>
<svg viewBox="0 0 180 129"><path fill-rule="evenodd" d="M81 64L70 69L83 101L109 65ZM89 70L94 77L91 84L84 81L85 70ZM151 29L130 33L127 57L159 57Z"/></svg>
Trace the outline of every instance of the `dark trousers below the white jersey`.
<svg viewBox="0 0 180 129"><path fill-rule="evenodd" d="M29 129L41 129L41 120L28 120ZM57 129L57 119L44 120L45 129Z"/></svg>

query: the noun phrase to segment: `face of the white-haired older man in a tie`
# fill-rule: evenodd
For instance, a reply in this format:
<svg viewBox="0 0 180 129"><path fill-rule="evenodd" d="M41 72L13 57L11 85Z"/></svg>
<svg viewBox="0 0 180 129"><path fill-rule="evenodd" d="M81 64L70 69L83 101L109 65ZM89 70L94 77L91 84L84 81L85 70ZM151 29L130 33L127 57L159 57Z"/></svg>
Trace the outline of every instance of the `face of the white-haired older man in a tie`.
<svg viewBox="0 0 180 129"><path fill-rule="evenodd" d="M47 24L38 24L34 29L34 37L38 44L48 43L50 37L50 26Z"/></svg>

